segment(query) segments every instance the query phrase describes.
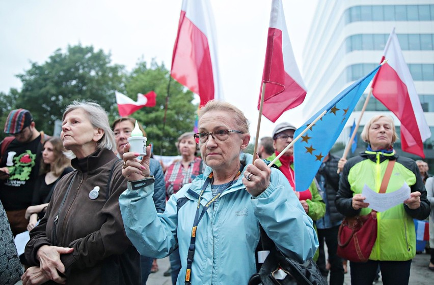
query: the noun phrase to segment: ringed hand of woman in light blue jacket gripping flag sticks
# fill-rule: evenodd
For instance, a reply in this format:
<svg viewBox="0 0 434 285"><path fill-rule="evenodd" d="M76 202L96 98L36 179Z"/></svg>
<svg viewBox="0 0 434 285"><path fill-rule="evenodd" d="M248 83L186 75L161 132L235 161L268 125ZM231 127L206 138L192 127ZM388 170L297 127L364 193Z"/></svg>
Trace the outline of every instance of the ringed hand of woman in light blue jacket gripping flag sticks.
<svg viewBox="0 0 434 285"><path fill-rule="evenodd" d="M256 154L254 164L249 164L244 172L242 183L246 186L247 192L256 197L270 185L270 175L271 169Z"/></svg>

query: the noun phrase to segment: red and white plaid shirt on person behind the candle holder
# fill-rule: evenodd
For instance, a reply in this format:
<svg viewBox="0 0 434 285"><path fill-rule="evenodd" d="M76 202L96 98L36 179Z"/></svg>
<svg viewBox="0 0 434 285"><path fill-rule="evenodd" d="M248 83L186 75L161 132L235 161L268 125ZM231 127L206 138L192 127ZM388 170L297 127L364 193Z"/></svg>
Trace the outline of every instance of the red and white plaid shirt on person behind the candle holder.
<svg viewBox="0 0 434 285"><path fill-rule="evenodd" d="M195 157L188 168L182 167L181 161L171 164L164 175L167 198L178 192L184 184L192 182L196 176L203 173L204 169L205 165L199 157Z"/></svg>

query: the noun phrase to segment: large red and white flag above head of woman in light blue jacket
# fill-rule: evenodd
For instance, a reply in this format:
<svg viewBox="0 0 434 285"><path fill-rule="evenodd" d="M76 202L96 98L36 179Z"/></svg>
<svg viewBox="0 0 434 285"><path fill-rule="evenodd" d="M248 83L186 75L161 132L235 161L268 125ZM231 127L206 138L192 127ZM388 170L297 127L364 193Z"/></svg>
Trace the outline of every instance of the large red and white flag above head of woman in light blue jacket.
<svg viewBox="0 0 434 285"><path fill-rule="evenodd" d="M183 0L172 56L172 77L200 97L223 100L209 0Z"/></svg>

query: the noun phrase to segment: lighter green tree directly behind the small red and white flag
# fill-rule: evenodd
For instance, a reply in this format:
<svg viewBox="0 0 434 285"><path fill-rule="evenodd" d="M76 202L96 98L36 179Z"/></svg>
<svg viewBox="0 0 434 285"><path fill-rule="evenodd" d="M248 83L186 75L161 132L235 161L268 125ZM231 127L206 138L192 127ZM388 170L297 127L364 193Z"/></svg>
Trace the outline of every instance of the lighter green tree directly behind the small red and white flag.
<svg viewBox="0 0 434 285"><path fill-rule="evenodd" d="M177 155L175 142L181 134L193 130L196 119L197 105L192 104L193 93L171 80L163 132L169 79L170 74L164 64L158 65L152 60L150 67L145 61L138 62L125 83L125 93L133 100L137 100L137 93L145 94L153 90L157 94L155 107L144 107L131 115L145 128L148 143L154 145L153 153L157 155Z"/></svg>

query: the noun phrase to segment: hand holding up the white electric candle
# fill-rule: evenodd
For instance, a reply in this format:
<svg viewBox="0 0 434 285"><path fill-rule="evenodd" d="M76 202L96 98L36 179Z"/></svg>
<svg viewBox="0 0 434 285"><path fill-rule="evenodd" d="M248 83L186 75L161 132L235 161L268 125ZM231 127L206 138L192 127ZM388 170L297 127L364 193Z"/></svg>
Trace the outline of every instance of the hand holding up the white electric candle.
<svg viewBox="0 0 434 285"><path fill-rule="evenodd" d="M129 152L129 147L129 143L124 145L124 154L122 155L124 166L122 167L122 175L128 179L128 181L136 181L149 177L151 145L146 147L146 155L142 157L142 160L137 158L140 156L139 153Z"/></svg>

